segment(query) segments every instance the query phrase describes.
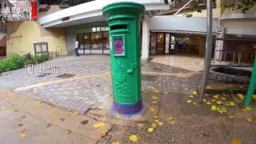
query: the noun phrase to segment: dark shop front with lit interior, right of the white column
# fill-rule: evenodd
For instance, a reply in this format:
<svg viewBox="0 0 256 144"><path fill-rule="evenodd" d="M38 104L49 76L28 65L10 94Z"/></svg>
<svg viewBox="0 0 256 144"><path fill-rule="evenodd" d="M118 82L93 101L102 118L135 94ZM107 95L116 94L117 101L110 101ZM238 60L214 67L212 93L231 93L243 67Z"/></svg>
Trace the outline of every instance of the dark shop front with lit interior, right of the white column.
<svg viewBox="0 0 256 144"><path fill-rule="evenodd" d="M150 32L150 55L190 54L204 56L206 37L202 34Z"/></svg>

